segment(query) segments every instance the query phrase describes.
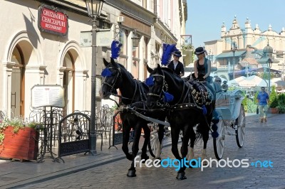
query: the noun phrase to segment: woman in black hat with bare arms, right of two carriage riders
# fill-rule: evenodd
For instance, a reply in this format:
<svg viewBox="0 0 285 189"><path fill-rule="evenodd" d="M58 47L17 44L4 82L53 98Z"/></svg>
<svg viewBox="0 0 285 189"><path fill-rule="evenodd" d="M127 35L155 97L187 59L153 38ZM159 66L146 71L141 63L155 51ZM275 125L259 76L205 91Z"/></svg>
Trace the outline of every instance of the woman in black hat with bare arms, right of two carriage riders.
<svg viewBox="0 0 285 189"><path fill-rule="evenodd" d="M197 55L198 60L194 62L194 75L197 79L206 80L211 83L212 77L209 77L211 73L211 61L205 58L205 52L206 50L202 47L195 49L195 55Z"/></svg>

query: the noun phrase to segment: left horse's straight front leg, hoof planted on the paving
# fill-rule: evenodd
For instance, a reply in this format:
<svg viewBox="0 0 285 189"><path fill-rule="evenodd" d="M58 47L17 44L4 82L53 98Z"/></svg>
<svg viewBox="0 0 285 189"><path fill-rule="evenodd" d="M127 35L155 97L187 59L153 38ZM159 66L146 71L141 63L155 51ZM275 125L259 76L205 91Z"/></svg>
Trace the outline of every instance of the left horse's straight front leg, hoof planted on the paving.
<svg viewBox="0 0 285 189"><path fill-rule="evenodd" d="M132 146L132 152L133 152L133 157L132 157L132 164L129 168L129 171L128 171L128 177L135 177L135 158L138 154L138 144L140 142L140 134L141 134L141 129L142 127L140 127L139 124L136 124L135 125L135 139L133 141L133 146Z"/></svg>

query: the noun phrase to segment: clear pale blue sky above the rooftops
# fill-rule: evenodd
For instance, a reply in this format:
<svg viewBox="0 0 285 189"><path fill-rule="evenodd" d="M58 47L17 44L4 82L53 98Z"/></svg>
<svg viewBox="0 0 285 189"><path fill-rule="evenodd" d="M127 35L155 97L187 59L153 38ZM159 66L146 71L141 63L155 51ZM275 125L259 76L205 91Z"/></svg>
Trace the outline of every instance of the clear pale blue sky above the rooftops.
<svg viewBox="0 0 285 189"><path fill-rule="evenodd" d="M284 0L187 0L186 33L192 35L194 48L204 46L205 41L221 39L221 26L229 31L234 16L240 28L249 18L252 29L258 24L261 32L266 31L269 24L272 30L280 33L285 28Z"/></svg>

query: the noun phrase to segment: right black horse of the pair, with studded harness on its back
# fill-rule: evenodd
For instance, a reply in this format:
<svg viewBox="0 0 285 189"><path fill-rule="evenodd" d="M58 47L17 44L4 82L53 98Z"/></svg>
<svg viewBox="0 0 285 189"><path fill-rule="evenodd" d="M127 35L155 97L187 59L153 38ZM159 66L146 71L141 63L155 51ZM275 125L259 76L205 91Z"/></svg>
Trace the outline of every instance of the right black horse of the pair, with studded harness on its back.
<svg viewBox="0 0 285 189"><path fill-rule="evenodd" d="M215 107L214 90L206 85L206 82L204 85L200 85L194 80L188 82L169 68L161 68L160 65L157 65L154 70L147 67L147 70L150 72L150 77L147 78L150 86L150 92L147 94L147 107L168 107L167 120L171 126L173 155L179 160L184 159L187 156L187 146L190 139L188 160L191 160L194 157L193 147L197 136L201 137L202 135L204 148L201 158L204 159L209 139L209 124L212 121L212 112ZM197 124L199 125L197 126L197 134L195 134L194 126ZM177 148L181 130L183 133L182 157L180 157ZM183 180L185 178L185 166L182 166L177 173L177 179Z"/></svg>

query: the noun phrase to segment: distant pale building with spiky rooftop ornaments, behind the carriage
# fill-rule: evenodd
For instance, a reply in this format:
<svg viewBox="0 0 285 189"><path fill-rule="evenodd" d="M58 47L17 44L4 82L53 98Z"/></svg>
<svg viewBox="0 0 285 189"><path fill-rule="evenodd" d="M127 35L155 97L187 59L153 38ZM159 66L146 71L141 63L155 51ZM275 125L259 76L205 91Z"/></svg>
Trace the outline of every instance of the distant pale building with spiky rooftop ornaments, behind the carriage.
<svg viewBox="0 0 285 189"><path fill-rule="evenodd" d="M251 26L249 18L242 27L234 17L229 31L223 23L221 39L204 42L205 48L208 57L212 58L213 66L217 66L219 75L232 79L234 70L239 74L241 70L248 72L252 68L264 66L260 65L257 60L261 58L263 49L269 44L274 50L274 59L279 61L272 65L272 69L282 72L284 77L285 29L280 29L279 32L274 31L269 24L265 31L261 31L258 24Z"/></svg>

